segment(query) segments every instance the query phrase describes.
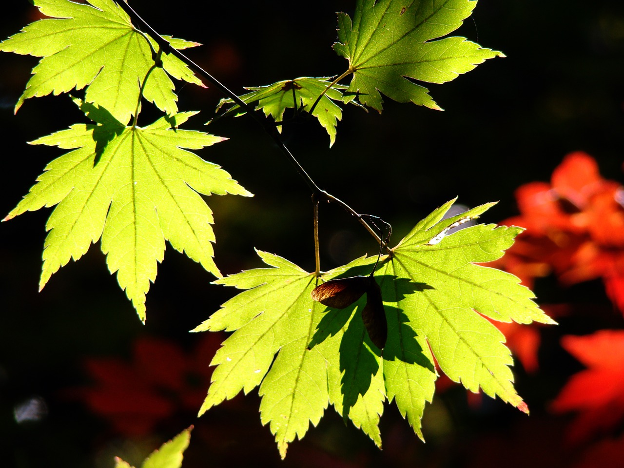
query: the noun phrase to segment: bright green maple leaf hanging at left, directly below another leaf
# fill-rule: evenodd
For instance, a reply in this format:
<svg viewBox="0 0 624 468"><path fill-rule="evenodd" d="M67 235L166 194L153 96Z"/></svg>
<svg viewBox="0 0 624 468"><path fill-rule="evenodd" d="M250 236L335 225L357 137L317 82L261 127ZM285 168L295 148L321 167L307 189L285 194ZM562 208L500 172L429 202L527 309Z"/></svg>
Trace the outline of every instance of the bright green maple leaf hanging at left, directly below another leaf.
<svg viewBox="0 0 624 468"><path fill-rule="evenodd" d="M145 293L163 260L165 240L221 276L212 258L212 211L199 193L251 193L218 165L184 150L224 140L177 128L197 112L140 128L126 127L91 104L81 109L95 124L72 125L32 142L72 151L47 165L5 220L58 203L46 224L40 288L101 236L109 270L117 271L119 285L145 320Z"/></svg>

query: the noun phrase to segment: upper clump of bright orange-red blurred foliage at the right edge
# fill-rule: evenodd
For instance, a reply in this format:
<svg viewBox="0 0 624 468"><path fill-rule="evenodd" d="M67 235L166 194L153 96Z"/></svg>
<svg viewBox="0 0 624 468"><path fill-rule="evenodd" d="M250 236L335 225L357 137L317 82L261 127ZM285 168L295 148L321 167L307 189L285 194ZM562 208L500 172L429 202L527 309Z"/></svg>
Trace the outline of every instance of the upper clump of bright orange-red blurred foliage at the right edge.
<svg viewBox="0 0 624 468"><path fill-rule="evenodd" d="M624 188L600 176L594 158L568 154L550 183L515 192L520 215L501 224L527 228L495 262L532 287L555 273L563 285L602 278L607 295L624 313Z"/></svg>

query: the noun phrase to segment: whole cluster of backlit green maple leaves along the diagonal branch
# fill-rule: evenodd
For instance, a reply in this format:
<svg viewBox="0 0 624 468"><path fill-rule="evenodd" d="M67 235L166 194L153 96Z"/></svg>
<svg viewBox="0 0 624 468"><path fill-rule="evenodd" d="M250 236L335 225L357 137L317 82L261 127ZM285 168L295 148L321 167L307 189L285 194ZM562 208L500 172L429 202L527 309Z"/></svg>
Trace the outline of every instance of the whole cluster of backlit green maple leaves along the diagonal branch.
<svg viewBox="0 0 624 468"><path fill-rule="evenodd" d="M172 79L203 85L196 75L201 69L179 52L198 44L150 36L132 23L127 5L113 0L34 3L47 18L0 43L0 51L41 57L16 110L30 97L84 89L83 99L74 102L89 120L32 142L69 152L47 165L5 218L56 205L46 225L41 288L100 240L109 270L117 272L145 321L145 294L167 240L215 275L216 284L243 290L194 330L233 332L213 358L217 368L200 413L259 387L261 421L270 425L281 456L310 422L318 424L329 404L381 446L379 417L384 402L394 401L422 438L420 420L434 394L436 363L467 389L528 412L513 386L505 338L487 318L553 322L518 278L476 265L498 260L521 228L476 225L454 232L491 204L445 218L451 201L389 248L363 216L316 187L279 137L290 121L314 117L331 146L341 106L381 112L382 95L440 109L423 84L447 82L503 56L464 37L444 37L471 14L475 1L359 0L353 17L338 14L333 47L348 66L337 76L248 87L238 97L202 71L203 79L227 91L218 117L270 117L271 136L307 177L314 196L341 204L387 248L386 255L325 273L318 260L316 272L308 273L258 251L268 268L225 278L213 261L212 210L201 195L251 193L190 151L224 138L180 129L197 112L178 110ZM170 48L162 48L163 39ZM143 99L165 115L141 127ZM340 308L311 295L327 281L358 275L368 278L366 284Z"/></svg>

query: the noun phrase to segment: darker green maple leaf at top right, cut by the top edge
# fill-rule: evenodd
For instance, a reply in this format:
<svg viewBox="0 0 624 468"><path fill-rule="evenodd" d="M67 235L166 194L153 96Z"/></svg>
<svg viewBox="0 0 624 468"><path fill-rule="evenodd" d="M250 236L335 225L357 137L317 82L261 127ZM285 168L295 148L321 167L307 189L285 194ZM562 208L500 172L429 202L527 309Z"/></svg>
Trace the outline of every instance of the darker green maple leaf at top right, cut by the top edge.
<svg viewBox="0 0 624 468"><path fill-rule="evenodd" d="M351 17L338 14L334 50L348 59L353 79L348 92L381 112L379 92L398 102L440 107L426 87L412 80L444 83L477 64L504 54L465 37L446 37L470 16L472 0L358 0ZM353 97L351 97L353 99Z"/></svg>

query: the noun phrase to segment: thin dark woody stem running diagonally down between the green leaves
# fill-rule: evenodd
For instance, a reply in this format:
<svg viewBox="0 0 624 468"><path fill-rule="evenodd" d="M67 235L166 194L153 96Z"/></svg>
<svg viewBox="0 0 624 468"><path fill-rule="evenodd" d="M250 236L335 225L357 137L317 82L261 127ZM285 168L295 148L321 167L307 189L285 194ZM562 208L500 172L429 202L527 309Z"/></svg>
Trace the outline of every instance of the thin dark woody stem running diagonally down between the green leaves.
<svg viewBox="0 0 624 468"><path fill-rule="evenodd" d="M258 122L258 124L260 124L263 127L263 129L265 129L266 133L271 137L271 139L273 139L275 144L280 149L281 153L286 157L288 162L291 163L291 165L295 168L296 172L301 176L301 178L303 178L306 185L308 185L308 188L310 188L310 191L312 192L313 197L315 197L317 204L318 202L321 202L321 200L324 200L329 203L338 203L338 205L343 207L344 210L346 210L346 212L353 215L358 220L358 222L361 225L363 225L363 227L373 236L373 238L380 245L384 244L384 241L374 232L373 228L370 227L370 225L366 222L366 220L364 220L364 218L361 215L359 215L358 212L356 212L353 208L349 207L349 205L344 203L342 200L339 200L333 195L330 195L324 190L321 190L318 187L318 185L314 183L314 180L312 180L312 178L310 177L310 175L308 175L305 169L301 167L301 164L296 160L295 156L293 156L293 154L290 152L288 147L286 147L284 142L281 140L280 132L278 132L275 124L271 123L270 120L266 119L266 117L263 114L261 114L261 112L256 111L252 106L250 106L245 101L240 99L240 97L238 97L238 95L236 95L235 92L233 92L227 86L222 84L219 80L217 80L210 73L205 71L202 67L198 66L195 62L193 62L191 59L185 56L182 52L173 48L168 41L163 39L160 36L160 34L158 34L158 32L154 31L154 28L152 28L152 26L147 24L147 22L145 22L144 19L140 17L139 14L135 12L134 9L132 9L132 7L130 7L130 5L127 4L124 0L116 0L116 2L117 2L117 5L119 5L119 7L122 10L124 10L128 14L128 16L130 16L130 18L132 18L135 24L139 24L140 27L145 29L145 31L147 31L150 34L152 39L154 39L154 41L158 44L158 47L160 49L158 51L159 53L163 52L165 54L172 54L173 56L185 62L190 67L190 69L192 69L193 72L195 72L196 74L201 76L203 79L205 79L207 82L215 86L221 92L221 94L232 99L235 102L235 104L240 106L241 109L245 110L247 114L251 115L251 117L253 117L253 119L255 119L256 122ZM319 102L321 97L323 97L323 95L329 90L329 88L331 88L334 84L336 84L338 80L343 79L343 77L347 76L349 73L351 73L350 70L347 72L344 72L344 74L342 74L336 80L334 80L334 82L329 84L328 87L326 87L326 89L323 91L323 93L318 97L318 99L316 99L316 102L314 103L314 105L316 105L316 103ZM389 251L388 246L386 246L386 250Z"/></svg>

